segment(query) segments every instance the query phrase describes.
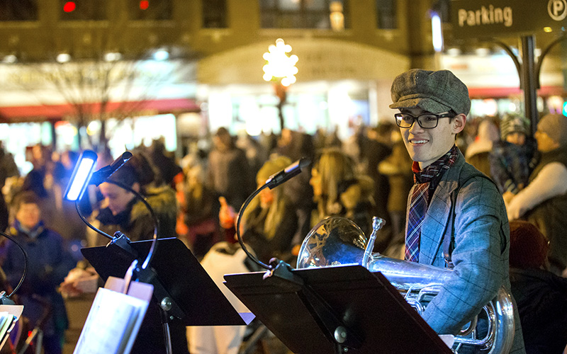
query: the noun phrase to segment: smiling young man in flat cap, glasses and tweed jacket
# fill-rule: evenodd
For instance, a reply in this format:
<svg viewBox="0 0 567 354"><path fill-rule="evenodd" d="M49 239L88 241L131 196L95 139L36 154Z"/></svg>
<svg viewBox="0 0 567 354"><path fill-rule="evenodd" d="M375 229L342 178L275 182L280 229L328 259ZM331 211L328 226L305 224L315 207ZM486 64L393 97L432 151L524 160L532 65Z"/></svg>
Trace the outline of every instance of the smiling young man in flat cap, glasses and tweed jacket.
<svg viewBox="0 0 567 354"><path fill-rule="evenodd" d="M437 333L455 335L501 287L510 292L505 205L496 185L467 164L455 145L471 109L461 80L448 70L412 69L394 79L391 96L390 108L400 110L395 122L414 161L405 259L454 269L422 317ZM512 346L502 353L525 353L517 309L514 319L510 332L515 333L507 333L514 336ZM465 346L459 353L480 349Z"/></svg>

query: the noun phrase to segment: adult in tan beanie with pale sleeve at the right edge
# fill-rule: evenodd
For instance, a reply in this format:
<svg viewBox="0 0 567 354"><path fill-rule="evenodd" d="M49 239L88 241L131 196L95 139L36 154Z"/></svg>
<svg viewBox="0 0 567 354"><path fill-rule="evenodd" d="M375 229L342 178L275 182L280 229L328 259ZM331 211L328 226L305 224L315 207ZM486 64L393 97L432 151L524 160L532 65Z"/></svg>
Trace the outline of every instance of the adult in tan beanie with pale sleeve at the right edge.
<svg viewBox="0 0 567 354"><path fill-rule="evenodd" d="M550 270L561 275L567 268L567 117L544 115L534 137L541 159L526 188L507 204L507 214L527 219L549 239Z"/></svg>

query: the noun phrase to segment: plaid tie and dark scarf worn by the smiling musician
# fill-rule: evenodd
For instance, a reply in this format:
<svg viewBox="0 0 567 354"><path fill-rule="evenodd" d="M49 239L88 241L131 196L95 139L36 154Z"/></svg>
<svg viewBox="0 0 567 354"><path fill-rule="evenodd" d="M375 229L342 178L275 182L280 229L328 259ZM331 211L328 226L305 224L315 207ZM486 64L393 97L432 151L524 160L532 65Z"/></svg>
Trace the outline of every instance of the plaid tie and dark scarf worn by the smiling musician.
<svg viewBox="0 0 567 354"><path fill-rule="evenodd" d="M412 165L415 184L411 192L408 229L405 234L406 261L417 262L420 260L421 225L423 224L425 213L430 205L435 188L437 188L445 171L450 169L455 163L458 152L459 149L456 145L453 145L447 154L444 154L423 170L420 170L420 165L416 161Z"/></svg>

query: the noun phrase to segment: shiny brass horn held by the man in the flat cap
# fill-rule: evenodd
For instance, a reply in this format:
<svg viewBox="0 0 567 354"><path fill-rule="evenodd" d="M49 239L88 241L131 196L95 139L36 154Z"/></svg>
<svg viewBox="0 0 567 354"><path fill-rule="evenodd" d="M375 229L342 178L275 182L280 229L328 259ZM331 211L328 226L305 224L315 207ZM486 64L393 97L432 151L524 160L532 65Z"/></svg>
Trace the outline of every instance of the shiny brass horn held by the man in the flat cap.
<svg viewBox="0 0 567 354"><path fill-rule="evenodd" d="M373 253L376 232L383 219L374 217L369 239L349 219L327 217L305 237L299 251L296 268L327 267L341 264L360 264L371 272L381 272L405 298L422 314L431 299L439 293L454 270L401 261ZM488 323L482 338L478 338L477 322ZM454 352L462 346L475 346L482 353L507 354L514 339L514 312L512 300L504 287L483 307L466 328L455 337Z"/></svg>

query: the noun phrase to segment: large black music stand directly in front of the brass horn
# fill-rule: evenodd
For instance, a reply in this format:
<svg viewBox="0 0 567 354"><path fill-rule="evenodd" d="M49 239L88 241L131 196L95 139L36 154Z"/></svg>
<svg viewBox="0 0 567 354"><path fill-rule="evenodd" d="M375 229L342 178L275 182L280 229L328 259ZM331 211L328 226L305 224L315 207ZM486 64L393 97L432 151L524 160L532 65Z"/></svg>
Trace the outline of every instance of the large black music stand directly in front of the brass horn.
<svg viewBox="0 0 567 354"><path fill-rule="evenodd" d="M452 353L381 273L361 265L291 273L303 285L266 273L225 275L225 285L293 353Z"/></svg>

